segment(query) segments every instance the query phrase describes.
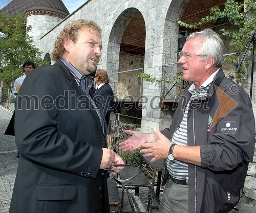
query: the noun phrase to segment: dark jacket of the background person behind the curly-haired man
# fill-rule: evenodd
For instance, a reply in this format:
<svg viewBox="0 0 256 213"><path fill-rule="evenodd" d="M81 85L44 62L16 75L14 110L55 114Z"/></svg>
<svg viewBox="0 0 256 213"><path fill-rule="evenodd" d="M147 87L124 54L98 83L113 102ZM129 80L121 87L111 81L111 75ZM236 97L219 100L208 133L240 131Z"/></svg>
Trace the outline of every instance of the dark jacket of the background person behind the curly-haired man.
<svg viewBox="0 0 256 213"><path fill-rule="evenodd" d="M98 105L102 114L105 117L106 124L109 125L110 113L113 109L114 93L111 86L108 83L102 85L93 94L93 100Z"/></svg>

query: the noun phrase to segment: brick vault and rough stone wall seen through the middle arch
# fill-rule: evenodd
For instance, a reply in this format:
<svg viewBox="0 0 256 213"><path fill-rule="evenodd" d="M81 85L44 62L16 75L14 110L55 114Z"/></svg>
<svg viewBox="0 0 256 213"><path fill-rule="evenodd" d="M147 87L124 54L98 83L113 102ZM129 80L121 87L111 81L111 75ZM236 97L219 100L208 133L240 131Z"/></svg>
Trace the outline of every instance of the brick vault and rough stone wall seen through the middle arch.
<svg viewBox="0 0 256 213"><path fill-rule="evenodd" d="M143 16L137 13L127 25L121 40L117 90L119 99L131 96L136 101L142 95L141 78L138 75L143 73L144 68L145 36Z"/></svg>

